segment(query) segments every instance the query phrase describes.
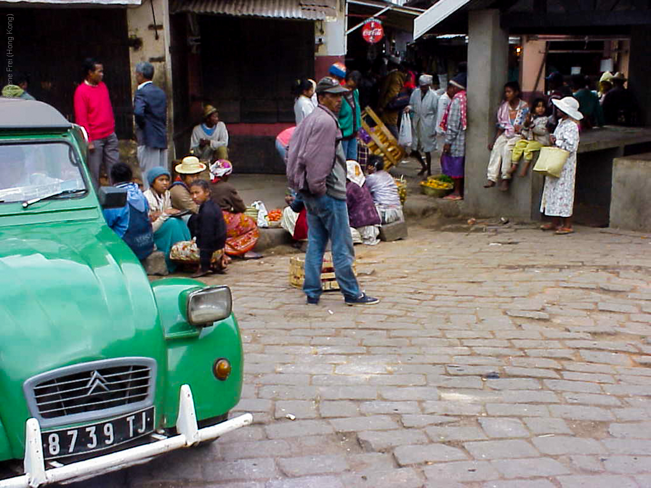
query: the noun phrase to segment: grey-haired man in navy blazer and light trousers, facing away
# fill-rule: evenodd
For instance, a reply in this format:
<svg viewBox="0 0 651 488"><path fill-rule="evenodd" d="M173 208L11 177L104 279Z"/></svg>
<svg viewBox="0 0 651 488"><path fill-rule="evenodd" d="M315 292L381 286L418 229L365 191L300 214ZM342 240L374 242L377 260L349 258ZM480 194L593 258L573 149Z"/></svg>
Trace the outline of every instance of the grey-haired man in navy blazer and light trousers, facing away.
<svg viewBox="0 0 651 488"><path fill-rule="evenodd" d="M153 167L167 168L167 96L152 83L154 66L139 62L135 66L138 89L133 99L138 165L143 175ZM142 178L145 189L149 183Z"/></svg>

